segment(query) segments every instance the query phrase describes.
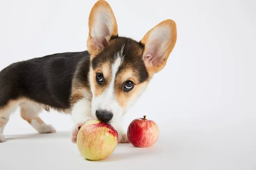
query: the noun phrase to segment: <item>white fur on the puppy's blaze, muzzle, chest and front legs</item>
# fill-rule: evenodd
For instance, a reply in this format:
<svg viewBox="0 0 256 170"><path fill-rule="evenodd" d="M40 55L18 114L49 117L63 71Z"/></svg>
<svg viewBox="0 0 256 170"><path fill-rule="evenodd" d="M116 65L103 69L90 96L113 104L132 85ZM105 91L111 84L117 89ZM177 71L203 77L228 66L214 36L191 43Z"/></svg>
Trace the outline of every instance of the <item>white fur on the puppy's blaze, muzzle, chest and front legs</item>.
<svg viewBox="0 0 256 170"><path fill-rule="evenodd" d="M123 112L124 108L122 108L115 99L114 96L114 82L116 78L116 73L122 64L122 53L123 53L124 45L122 49L116 54L116 60L111 65L111 82L108 88L97 97L95 96L95 89L93 85L93 79L95 79L95 74L91 70L90 71L90 88L93 94L92 102L88 102L86 98L79 100L72 111L73 121L76 125L73 126L72 129L72 142L76 142L76 133L78 131L78 125L87 122L90 119L97 119L96 118L96 111L98 109L106 109L113 113L113 118L111 120L111 125L117 130L118 132L118 142L119 143L126 143L128 142L128 138L126 135L125 130L122 128L122 119L123 119Z"/></svg>

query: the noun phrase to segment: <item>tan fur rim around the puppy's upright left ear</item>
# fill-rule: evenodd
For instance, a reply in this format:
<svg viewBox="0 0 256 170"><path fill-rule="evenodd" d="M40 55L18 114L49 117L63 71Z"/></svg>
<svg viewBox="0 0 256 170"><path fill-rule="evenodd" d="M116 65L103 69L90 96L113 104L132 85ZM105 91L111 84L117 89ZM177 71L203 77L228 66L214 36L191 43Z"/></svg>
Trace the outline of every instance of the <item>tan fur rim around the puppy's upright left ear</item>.
<svg viewBox="0 0 256 170"><path fill-rule="evenodd" d="M113 24L113 29L111 30L111 32L105 37L105 39L107 40L107 42L110 40L111 36L117 36L117 24L116 24L116 18L114 16L114 13L112 11L111 6L109 6L109 4L105 1L105 0L99 0L97 1L93 8L90 11L90 15L89 15L89 36L87 39L87 50L89 51L89 53L93 56L96 56L97 54L99 54L102 50L103 50L103 46L101 47L97 47L95 46L95 43L93 42L93 38L96 37L92 37L92 28L95 25L96 22L96 16L97 13L99 11L102 10L108 10L108 12L111 14L111 20L114 23Z"/></svg>

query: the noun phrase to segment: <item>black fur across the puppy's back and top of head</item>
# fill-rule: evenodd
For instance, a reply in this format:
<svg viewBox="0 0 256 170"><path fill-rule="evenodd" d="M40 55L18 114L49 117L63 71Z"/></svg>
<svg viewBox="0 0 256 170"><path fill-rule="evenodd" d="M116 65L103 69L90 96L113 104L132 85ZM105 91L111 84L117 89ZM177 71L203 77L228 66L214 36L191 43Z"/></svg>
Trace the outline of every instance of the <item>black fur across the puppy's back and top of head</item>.
<svg viewBox="0 0 256 170"><path fill-rule="evenodd" d="M129 67L138 74L140 83L148 79L142 59L142 43L130 38L112 37L108 44L104 51L93 58L93 68L106 60L114 61L114 54L125 44L125 55L119 72ZM70 95L75 72L76 80L90 89L89 68L88 51L52 54L11 64L0 71L0 108L12 99L26 97L53 108L68 109L71 106Z"/></svg>

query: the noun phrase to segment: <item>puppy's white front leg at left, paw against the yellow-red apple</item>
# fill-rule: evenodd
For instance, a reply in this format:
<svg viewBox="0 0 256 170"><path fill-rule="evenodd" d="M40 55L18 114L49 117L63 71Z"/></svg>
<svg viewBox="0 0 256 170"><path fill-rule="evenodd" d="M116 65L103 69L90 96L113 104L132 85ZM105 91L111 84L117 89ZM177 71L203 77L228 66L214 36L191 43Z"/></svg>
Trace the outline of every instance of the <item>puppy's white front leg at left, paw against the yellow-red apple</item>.
<svg viewBox="0 0 256 170"><path fill-rule="evenodd" d="M91 113L91 102L87 99L80 99L73 106L71 113L75 125L72 128L71 141L76 144L76 138L80 127L90 119L93 119Z"/></svg>

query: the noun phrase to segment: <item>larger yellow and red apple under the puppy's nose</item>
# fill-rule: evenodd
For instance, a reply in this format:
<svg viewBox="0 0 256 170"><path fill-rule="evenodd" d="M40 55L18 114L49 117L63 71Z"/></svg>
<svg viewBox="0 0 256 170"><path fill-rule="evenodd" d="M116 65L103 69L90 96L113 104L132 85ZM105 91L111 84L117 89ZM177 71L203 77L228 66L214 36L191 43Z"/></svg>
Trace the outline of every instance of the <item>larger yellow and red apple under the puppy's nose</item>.
<svg viewBox="0 0 256 170"><path fill-rule="evenodd" d="M99 161L106 159L116 149L118 133L110 124L89 120L81 126L76 143L85 159Z"/></svg>

